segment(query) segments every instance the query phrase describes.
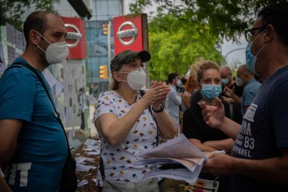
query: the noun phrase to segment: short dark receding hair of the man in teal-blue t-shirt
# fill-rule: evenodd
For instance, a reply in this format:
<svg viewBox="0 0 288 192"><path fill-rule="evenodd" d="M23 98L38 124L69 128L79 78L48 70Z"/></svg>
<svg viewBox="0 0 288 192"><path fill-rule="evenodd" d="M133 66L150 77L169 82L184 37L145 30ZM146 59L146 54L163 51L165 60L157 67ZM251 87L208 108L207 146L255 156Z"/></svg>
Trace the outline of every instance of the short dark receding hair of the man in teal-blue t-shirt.
<svg viewBox="0 0 288 192"><path fill-rule="evenodd" d="M26 40L26 47L29 45L29 32L31 30L38 31L41 35L47 29L46 15L51 13L49 11L35 11L31 13L25 20L23 25L23 33ZM54 14L54 13L52 13Z"/></svg>

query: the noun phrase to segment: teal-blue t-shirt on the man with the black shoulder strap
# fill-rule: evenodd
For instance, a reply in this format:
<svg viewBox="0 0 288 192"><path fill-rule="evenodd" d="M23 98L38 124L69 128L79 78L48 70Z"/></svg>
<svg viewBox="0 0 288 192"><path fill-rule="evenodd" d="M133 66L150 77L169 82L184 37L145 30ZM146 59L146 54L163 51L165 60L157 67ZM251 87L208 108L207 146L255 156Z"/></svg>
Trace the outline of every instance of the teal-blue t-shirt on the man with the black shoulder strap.
<svg viewBox="0 0 288 192"><path fill-rule="evenodd" d="M27 63L23 58L15 62ZM35 70L51 95L45 77ZM67 158L65 135L40 81L24 66L11 68L0 79L0 120L6 119L23 120L17 150L6 172L10 188L58 191Z"/></svg>

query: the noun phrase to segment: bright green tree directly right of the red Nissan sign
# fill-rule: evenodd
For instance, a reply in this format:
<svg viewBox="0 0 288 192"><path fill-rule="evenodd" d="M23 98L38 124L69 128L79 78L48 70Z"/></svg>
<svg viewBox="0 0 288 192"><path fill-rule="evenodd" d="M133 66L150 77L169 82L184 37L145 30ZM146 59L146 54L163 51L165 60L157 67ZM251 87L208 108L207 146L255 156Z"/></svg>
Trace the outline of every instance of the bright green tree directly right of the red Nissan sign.
<svg viewBox="0 0 288 192"><path fill-rule="evenodd" d="M167 79L170 72L183 76L200 57L220 63L217 40L206 24L186 24L171 15L154 17L149 23L150 79Z"/></svg>

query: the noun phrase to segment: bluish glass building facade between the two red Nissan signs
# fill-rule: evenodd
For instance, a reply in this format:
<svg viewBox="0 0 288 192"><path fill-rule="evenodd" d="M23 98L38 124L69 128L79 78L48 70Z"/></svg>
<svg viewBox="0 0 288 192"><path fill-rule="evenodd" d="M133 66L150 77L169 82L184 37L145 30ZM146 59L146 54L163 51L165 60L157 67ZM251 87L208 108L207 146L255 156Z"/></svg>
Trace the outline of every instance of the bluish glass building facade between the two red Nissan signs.
<svg viewBox="0 0 288 192"><path fill-rule="evenodd" d="M109 79L101 79L99 67L109 68L108 37L104 34L103 25L111 22L111 58L114 56L113 17L123 15L122 0L93 0L93 17L86 21L87 43L87 83L90 95L97 98L99 93L109 89ZM109 70L108 70L109 72Z"/></svg>

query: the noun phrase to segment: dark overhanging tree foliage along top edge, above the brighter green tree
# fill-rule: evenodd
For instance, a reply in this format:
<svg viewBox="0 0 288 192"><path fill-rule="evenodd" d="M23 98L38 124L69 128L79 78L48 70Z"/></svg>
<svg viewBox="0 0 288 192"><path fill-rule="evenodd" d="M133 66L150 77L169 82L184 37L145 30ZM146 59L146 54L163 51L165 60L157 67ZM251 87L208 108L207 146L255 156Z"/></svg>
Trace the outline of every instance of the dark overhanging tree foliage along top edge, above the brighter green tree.
<svg viewBox="0 0 288 192"><path fill-rule="evenodd" d="M157 5L159 13L185 19L187 24L207 24L211 33L237 42L243 30L253 24L259 9L276 2L279 0L137 0L129 9L136 14Z"/></svg>

